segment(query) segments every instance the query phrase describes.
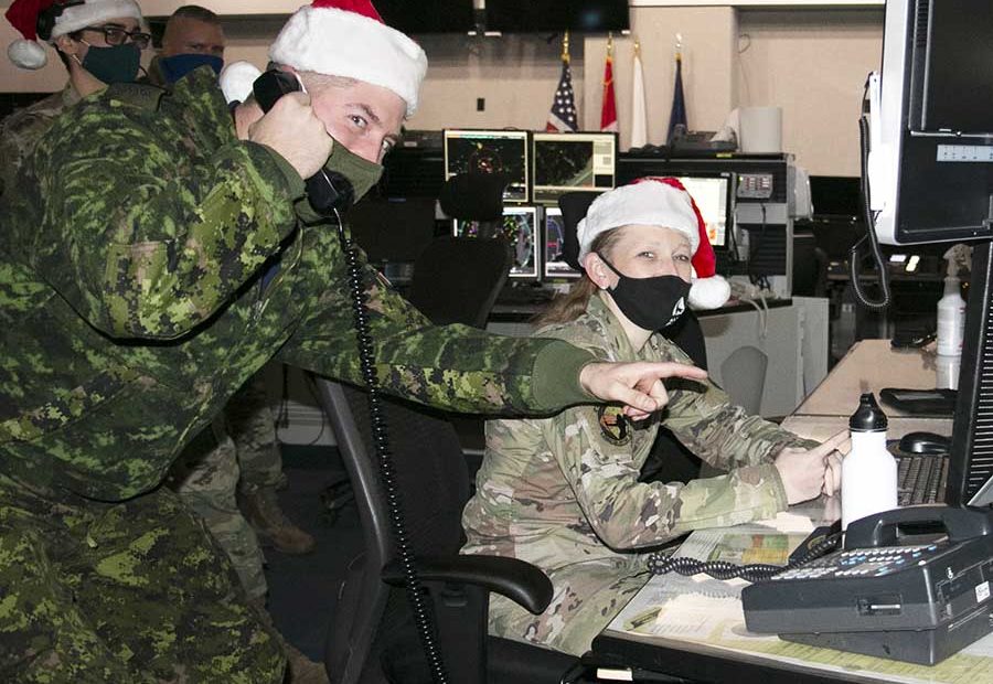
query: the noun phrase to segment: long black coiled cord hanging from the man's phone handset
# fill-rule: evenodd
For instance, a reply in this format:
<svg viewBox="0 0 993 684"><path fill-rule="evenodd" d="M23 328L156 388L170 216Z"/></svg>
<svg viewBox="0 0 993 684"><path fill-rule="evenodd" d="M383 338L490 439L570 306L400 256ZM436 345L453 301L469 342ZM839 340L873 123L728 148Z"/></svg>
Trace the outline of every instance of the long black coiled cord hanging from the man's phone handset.
<svg viewBox="0 0 993 684"><path fill-rule="evenodd" d="M389 439L386 434L383 406L380 403L380 381L374 364L375 350L369 327L369 307L366 306L365 290L362 287L362 265L359 263L357 250L345 235L341 214L338 213L337 209L333 211L338 220L338 237L341 241L341 249L344 253L345 265L348 266L349 292L355 319L355 338L359 342L359 363L362 370L362 378L365 381L365 386L369 391L369 417L372 427L373 446L380 463L383 488L386 491L389 522L393 525L396 553L399 556L404 573L407 600L410 602L410 609L414 612L414 623L417 626L417 633L420 637L428 667L431 671L431 678L436 684L446 684L448 675L445 671L445 662L436 643L434 620L431 619L425 594L421 590L414 554L410 551L407 530L403 520L403 502L401 501L399 488L396 484L393 458L389 453Z"/></svg>

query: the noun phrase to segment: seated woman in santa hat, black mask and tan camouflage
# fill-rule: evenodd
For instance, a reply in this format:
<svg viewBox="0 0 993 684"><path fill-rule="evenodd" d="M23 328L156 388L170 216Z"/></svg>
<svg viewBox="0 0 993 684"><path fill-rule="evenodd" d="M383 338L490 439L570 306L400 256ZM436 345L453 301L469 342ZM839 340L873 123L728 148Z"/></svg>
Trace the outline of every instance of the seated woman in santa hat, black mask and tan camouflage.
<svg viewBox="0 0 993 684"><path fill-rule="evenodd" d="M687 301L717 308L728 288L713 275L703 218L680 182L649 178L609 191L577 232L585 275L553 301L535 336L604 361L691 363L665 329ZM554 587L537 617L493 595L492 634L580 655L648 581L648 551L836 491L835 448L846 434L821 446L800 439L747 415L703 378L676 378L666 391L665 408L640 421L601 405L487 423L462 553L533 563ZM660 426L727 474L639 482Z"/></svg>

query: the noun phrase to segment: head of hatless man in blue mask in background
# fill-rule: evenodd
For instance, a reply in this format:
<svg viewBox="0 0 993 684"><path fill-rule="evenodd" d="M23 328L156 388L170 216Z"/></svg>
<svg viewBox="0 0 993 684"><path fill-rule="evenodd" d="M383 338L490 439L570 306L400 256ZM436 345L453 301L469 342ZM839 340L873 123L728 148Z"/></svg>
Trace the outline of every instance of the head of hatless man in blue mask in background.
<svg viewBox="0 0 993 684"><path fill-rule="evenodd" d="M162 49L149 65L149 82L168 87L204 64L220 74L226 44L217 14L199 4L184 4L166 22Z"/></svg>

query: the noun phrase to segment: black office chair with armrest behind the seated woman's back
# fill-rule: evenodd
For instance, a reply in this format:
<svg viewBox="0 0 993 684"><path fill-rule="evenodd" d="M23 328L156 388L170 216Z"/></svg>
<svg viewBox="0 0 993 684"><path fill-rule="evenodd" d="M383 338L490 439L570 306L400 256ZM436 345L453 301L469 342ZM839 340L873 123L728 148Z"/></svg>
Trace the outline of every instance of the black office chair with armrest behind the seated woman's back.
<svg viewBox="0 0 993 684"><path fill-rule="evenodd" d="M328 634L324 663L334 684L430 676L413 628L380 481L366 395L317 380L318 394L352 479L365 551L349 565ZM460 556L461 513L469 492L466 459L451 426L420 407L383 397L408 543L434 608L438 645L452 684L558 682L578 659L487 635L489 591L538 613L552 584L516 558Z"/></svg>

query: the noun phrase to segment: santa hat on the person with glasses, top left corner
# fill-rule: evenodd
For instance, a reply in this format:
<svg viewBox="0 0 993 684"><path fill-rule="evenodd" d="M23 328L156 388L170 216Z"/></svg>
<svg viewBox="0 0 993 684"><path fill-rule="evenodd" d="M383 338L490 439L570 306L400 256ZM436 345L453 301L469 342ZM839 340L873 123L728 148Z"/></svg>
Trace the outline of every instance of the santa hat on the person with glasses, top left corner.
<svg viewBox="0 0 993 684"><path fill-rule="evenodd" d="M7 47L7 56L21 68L41 68L49 61L39 38L52 42L60 35L124 17L134 17L143 25L141 9L134 0L14 0L4 15L24 36Z"/></svg>

